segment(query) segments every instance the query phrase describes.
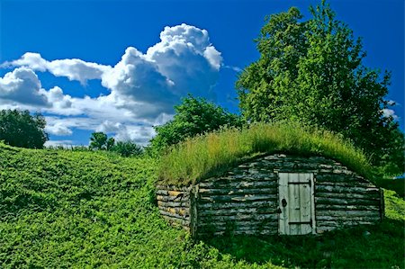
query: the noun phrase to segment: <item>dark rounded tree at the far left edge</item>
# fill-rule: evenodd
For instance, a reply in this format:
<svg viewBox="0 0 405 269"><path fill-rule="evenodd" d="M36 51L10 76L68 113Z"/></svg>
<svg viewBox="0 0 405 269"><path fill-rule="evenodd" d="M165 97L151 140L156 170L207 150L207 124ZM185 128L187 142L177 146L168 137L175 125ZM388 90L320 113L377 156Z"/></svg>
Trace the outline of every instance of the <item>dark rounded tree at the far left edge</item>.
<svg viewBox="0 0 405 269"><path fill-rule="evenodd" d="M48 140L46 121L40 114L29 111L0 111L0 140L10 146L21 148L43 148Z"/></svg>

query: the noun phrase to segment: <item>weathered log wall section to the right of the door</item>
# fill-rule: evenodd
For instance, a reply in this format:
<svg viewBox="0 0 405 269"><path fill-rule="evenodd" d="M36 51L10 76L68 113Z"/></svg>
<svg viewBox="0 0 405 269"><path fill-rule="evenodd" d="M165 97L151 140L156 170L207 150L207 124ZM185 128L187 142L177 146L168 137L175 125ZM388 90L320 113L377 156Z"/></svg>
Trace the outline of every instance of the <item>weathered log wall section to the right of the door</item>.
<svg viewBox="0 0 405 269"><path fill-rule="evenodd" d="M315 185L317 232L383 219L383 194L364 178L320 173Z"/></svg>

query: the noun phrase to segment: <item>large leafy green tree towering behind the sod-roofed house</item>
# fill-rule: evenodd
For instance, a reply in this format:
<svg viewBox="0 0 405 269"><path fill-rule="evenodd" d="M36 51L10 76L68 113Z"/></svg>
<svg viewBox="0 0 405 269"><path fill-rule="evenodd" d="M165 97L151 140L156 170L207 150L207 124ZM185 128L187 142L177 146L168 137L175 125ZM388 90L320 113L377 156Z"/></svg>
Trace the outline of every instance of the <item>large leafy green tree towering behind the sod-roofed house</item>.
<svg viewBox="0 0 405 269"><path fill-rule="evenodd" d="M403 145L398 123L383 115L390 106L384 97L391 75L363 65L361 40L335 19L329 4L322 1L310 10L308 21L294 7L266 18L256 40L260 58L236 83L242 115L247 121L295 120L341 133L381 165L383 156ZM395 162L401 171L403 153Z"/></svg>

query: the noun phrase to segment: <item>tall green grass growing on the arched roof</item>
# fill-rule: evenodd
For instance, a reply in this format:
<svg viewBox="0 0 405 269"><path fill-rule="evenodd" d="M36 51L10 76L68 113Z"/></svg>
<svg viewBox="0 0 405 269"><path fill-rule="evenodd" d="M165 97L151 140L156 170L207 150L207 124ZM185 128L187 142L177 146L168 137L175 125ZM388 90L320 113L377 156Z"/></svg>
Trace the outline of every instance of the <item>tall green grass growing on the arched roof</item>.
<svg viewBox="0 0 405 269"><path fill-rule="evenodd" d="M256 123L237 130L219 130L169 149L161 158L159 181L186 185L263 154L284 152L335 159L359 175L371 177L367 157L350 142L327 130L296 122Z"/></svg>

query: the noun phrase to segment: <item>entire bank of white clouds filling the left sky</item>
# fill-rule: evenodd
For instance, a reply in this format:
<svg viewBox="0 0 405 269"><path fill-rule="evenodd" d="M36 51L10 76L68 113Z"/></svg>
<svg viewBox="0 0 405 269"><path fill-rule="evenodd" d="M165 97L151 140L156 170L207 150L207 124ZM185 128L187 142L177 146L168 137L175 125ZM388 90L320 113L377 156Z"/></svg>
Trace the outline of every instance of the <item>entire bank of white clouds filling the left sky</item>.
<svg viewBox="0 0 405 269"><path fill-rule="evenodd" d="M99 130L118 140L145 144L155 134L153 126L170 120L174 105L186 94L215 98L213 87L222 60L208 31L184 23L165 27L160 40L146 53L134 47L125 49L114 66L78 58L47 60L27 52L0 66L16 67L0 78L0 108L46 112L47 131L53 135ZM82 85L99 79L110 93L91 98L76 97L81 95L80 88L72 95L58 86L46 90L35 72L66 76Z"/></svg>

